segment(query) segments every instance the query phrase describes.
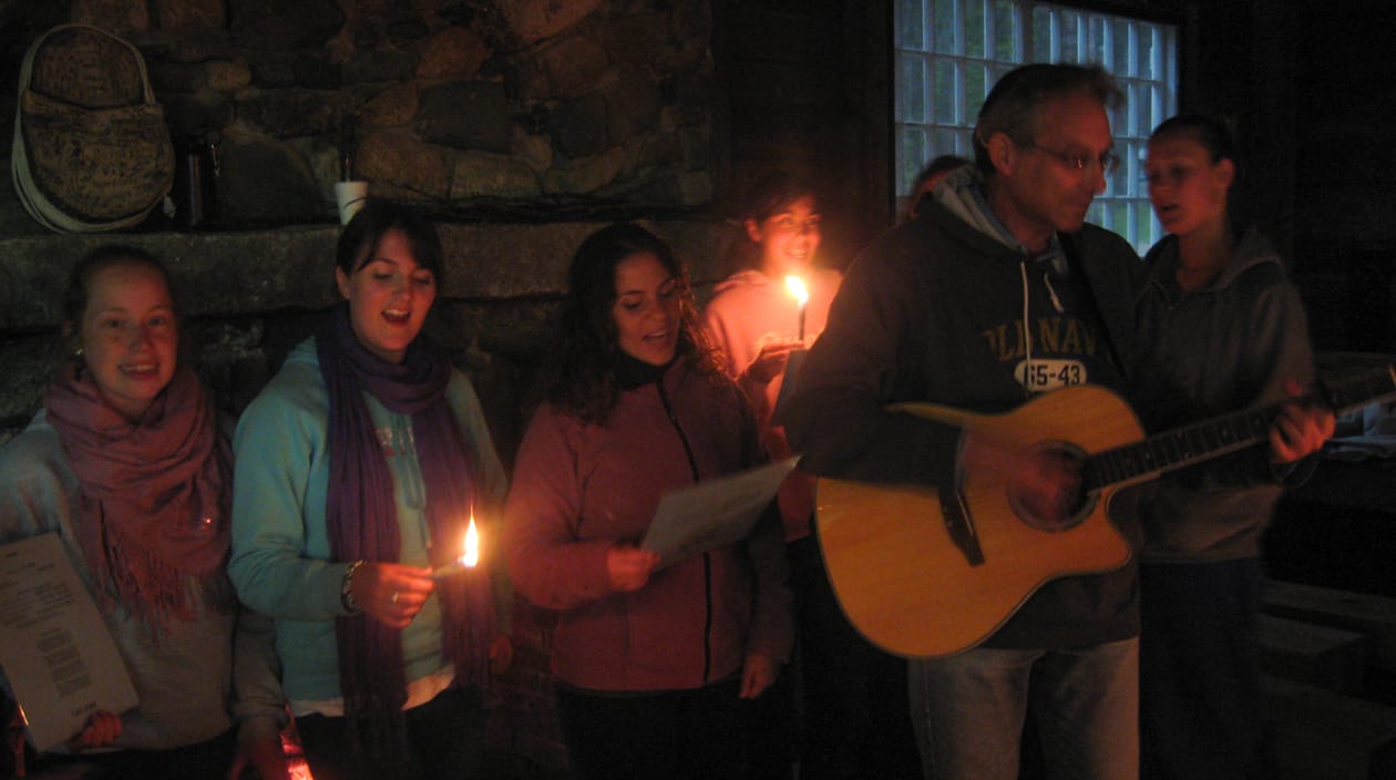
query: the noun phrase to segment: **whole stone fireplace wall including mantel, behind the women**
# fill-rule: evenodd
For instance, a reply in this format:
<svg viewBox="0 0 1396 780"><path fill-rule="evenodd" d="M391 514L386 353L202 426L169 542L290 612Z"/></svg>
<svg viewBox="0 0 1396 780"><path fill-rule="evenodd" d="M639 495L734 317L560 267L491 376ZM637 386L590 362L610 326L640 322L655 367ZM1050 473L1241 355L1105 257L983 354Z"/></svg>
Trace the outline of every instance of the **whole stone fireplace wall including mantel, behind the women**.
<svg viewBox="0 0 1396 780"><path fill-rule="evenodd" d="M427 329L512 463L588 233L645 219L701 289L722 273L736 233L694 216L722 159L711 17L709 0L0 1L0 106L38 35L87 22L141 49L180 156L218 156L216 211L197 230L156 212L127 234L53 236L21 209L0 144L0 442L66 359L59 290L103 243L169 264L184 356L236 416L335 303L332 190L350 169L438 219L447 272ZM13 121L0 110L0 137ZM491 777L567 774L551 625L519 603L517 663L491 693Z"/></svg>

